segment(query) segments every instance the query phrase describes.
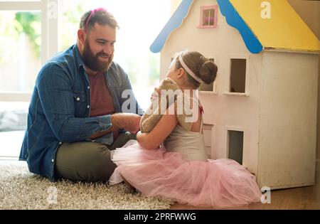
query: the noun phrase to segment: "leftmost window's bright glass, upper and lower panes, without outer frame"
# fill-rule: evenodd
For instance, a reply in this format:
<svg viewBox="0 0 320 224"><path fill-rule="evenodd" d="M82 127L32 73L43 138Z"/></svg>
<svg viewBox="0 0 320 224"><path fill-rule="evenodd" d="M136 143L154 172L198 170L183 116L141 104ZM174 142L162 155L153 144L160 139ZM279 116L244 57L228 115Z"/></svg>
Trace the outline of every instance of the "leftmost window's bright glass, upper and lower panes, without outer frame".
<svg viewBox="0 0 320 224"><path fill-rule="evenodd" d="M0 42L0 157L17 159L28 113L21 101L41 68L41 12L0 11Z"/></svg>

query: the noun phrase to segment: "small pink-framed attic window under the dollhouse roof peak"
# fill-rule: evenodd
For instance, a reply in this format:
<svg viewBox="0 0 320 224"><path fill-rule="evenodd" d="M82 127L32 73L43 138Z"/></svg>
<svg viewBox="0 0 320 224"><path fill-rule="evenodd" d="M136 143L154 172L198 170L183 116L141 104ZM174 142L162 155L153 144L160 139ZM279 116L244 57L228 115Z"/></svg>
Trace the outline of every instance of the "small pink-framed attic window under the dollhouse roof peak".
<svg viewBox="0 0 320 224"><path fill-rule="evenodd" d="M198 28L215 28L217 26L218 5L201 6Z"/></svg>

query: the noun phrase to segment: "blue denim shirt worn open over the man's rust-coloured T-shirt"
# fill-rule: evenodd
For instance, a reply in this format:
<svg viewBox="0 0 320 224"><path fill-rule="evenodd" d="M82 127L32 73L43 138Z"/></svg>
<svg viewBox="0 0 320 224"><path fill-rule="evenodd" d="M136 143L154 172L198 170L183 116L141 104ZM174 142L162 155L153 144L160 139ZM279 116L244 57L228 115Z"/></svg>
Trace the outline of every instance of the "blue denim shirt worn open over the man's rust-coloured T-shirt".
<svg viewBox="0 0 320 224"><path fill-rule="evenodd" d="M112 63L104 75L115 112L143 114L124 70ZM36 79L19 156L27 161L29 171L55 181L55 155L60 144L91 142L88 138L92 134L112 126L111 115L90 117L90 106L90 82L74 45L48 60ZM112 133L95 142L112 144Z"/></svg>

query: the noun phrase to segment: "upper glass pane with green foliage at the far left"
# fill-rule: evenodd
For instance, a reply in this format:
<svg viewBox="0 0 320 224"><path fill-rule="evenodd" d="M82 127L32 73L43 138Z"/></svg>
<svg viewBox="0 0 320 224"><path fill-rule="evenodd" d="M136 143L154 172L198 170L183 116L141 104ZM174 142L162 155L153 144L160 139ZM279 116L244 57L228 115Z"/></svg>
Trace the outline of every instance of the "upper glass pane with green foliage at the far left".
<svg viewBox="0 0 320 224"><path fill-rule="evenodd" d="M0 92L31 92L41 68L41 13L0 11Z"/></svg>

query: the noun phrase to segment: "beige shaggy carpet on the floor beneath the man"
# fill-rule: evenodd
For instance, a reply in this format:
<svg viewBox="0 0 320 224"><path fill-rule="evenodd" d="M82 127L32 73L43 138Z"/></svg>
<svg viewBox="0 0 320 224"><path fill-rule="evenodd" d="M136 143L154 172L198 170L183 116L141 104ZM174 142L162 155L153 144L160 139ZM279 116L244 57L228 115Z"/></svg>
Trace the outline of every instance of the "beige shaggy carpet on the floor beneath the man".
<svg viewBox="0 0 320 224"><path fill-rule="evenodd" d="M169 209L172 201L127 193L125 184L50 182L25 163L0 164L0 209Z"/></svg>

